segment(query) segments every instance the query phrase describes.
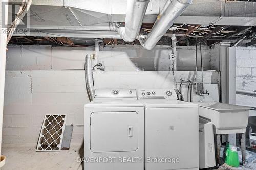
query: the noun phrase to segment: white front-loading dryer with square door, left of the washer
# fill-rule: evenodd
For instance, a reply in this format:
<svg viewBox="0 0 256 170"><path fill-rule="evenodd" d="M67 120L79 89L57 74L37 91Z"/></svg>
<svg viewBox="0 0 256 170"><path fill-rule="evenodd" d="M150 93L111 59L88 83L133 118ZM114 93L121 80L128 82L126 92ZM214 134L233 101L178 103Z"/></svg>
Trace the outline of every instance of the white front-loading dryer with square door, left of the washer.
<svg viewBox="0 0 256 170"><path fill-rule="evenodd" d="M143 170L144 106L135 89L96 89L84 105L84 169Z"/></svg>

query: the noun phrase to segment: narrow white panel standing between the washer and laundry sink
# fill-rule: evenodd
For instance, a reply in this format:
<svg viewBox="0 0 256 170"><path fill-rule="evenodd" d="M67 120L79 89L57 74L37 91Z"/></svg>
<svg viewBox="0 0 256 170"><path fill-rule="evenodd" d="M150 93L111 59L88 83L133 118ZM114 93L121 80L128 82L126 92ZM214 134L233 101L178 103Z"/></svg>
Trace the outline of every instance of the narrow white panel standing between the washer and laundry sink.
<svg viewBox="0 0 256 170"><path fill-rule="evenodd" d="M211 122L199 118L199 168L215 165L214 128Z"/></svg>

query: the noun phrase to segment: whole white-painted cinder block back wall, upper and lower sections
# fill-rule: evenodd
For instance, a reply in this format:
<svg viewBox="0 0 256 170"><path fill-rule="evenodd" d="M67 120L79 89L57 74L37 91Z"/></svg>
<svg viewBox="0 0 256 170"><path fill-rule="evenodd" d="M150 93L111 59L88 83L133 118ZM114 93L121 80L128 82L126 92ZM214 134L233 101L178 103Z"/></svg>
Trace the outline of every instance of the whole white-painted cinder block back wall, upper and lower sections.
<svg viewBox="0 0 256 170"><path fill-rule="evenodd" d="M180 47L178 69L195 69L195 47ZM67 125L73 124L72 143L83 141L83 105L89 102L84 81L84 57L94 54L94 48L52 46L8 46L3 123L3 144L36 145L45 114L67 114ZM101 47L99 61L106 75L95 74L96 86L102 87L97 76L137 76L127 88L139 88L147 80L147 88L173 87L168 71L169 47L146 51L140 46ZM203 48L204 69L210 69L209 48ZM194 66L194 67L193 67ZM137 67L146 71L139 72ZM200 65L199 65L200 67ZM113 72L114 71L114 72ZM121 73L120 73L121 71ZM116 73L115 73L116 72ZM200 74L200 73L199 73ZM187 79L193 72L180 73ZM208 83L218 83L218 73L205 73ZM157 81L154 81L157 80ZM127 80L126 80L127 81ZM132 82L132 81L129 81ZM111 84L111 83L109 83ZM120 84L123 84L120 82ZM126 83L127 84L127 83ZM105 84L104 84L105 85Z"/></svg>

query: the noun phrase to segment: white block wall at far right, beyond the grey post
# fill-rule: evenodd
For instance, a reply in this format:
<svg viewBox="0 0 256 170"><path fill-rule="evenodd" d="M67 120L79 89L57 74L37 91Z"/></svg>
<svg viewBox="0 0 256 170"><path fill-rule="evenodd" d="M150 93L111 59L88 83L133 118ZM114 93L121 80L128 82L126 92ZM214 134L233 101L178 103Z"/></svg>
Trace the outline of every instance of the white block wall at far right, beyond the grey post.
<svg viewBox="0 0 256 170"><path fill-rule="evenodd" d="M236 75L237 89L256 90L256 48L236 48ZM237 94L236 98L237 104L256 106L256 97Z"/></svg>

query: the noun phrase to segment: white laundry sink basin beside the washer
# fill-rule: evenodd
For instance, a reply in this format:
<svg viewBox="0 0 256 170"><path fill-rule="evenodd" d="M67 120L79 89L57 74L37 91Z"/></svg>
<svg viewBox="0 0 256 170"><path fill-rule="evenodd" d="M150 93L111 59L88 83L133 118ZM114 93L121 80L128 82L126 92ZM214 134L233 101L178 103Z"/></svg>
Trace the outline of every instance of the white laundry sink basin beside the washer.
<svg viewBox="0 0 256 170"><path fill-rule="evenodd" d="M215 134L245 133L249 110L253 108L226 103L198 103L199 116L214 125Z"/></svg>

